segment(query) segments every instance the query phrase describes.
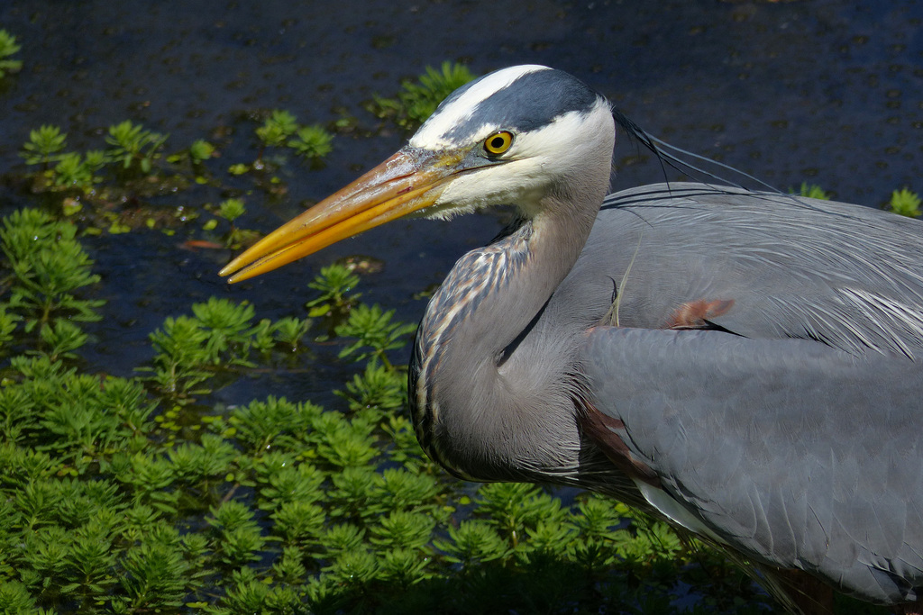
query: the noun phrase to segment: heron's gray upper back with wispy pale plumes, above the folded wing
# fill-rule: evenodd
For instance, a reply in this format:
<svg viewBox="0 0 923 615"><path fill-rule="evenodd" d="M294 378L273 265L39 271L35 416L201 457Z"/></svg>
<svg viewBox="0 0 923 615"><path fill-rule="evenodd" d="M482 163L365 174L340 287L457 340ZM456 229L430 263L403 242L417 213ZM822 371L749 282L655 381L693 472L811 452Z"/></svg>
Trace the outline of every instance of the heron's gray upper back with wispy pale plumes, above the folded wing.
<svg viewBox="0 0 923 615"><path fill-rule="evenodd" d="M739 335L923 358L921 247L918 220L675 183L610 195L575 275L618 272L621 325L662 327L682 302L729 299L713 324Z"/></svg>

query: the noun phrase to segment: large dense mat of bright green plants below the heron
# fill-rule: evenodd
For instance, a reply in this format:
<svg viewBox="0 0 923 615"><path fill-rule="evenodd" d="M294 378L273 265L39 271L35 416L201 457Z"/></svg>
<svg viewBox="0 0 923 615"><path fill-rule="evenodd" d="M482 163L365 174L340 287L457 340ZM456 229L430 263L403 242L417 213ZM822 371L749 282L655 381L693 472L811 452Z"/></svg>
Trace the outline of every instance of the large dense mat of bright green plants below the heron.
<svg viewBox="0 0 923 615"><path fill-rule="evenodd" d="M388 360L414 327L358 302L345 267L312 282L317 305L352 306L332 341L364 367L341 402L223 408L210 392L305 349L308 319L213 298L150 335L137 376L87 373L81 324L104 305L73 225L27 209L0 226L16 272L0 297L4 612L653 613L686 596L693 561L709 612L761 604L733 566L621 504L450 479ZM36 254L66 283L23 294L41 287L23 274Z"/></svg>

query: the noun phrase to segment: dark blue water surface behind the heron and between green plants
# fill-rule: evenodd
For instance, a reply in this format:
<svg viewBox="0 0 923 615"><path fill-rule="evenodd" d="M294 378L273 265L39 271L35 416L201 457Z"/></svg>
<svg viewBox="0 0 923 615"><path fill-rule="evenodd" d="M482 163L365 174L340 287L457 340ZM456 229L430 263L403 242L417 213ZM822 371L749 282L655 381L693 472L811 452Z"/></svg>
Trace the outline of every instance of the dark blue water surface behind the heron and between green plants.
<svg viewBox="0 0 923 615"><path fill-rule="evenodd" d="M402 78L450 59L475 73L553 65L679 147L782 189L819 183L880 207L895 188L923 190L921 18L923 6L910 1L6 0L0 28L18 37L24 68L0 86L0 171L24 169L18 149L40 124L61 125L70 148L86 149L103 147L109 124L131 119L169 133L167 149L234 135L217 139L222 159L212 168L220 172L256 157L248 112L283 108L328 123L345 109L362 133L377 125L362 101L393 95ZM339 137L325 168L284 178L287 195L246 196L243 226L270 230L404 137L393 129ZM617 160L634 153L621 143ZM662 178L654 164L630 165L616 185ZM221 198L201 188L158 202L198 207ZM0 184L0 214L32 200ZM415 321L424 303L414 292L438 283L497 228L493 216L399 221L232 289L216 275L230 254L182 250L180 240L150 231L88 239L110 302L90 361L130 374L165 315L215 294L255 302L263 317L300 313L305 282L346 254L381 259L383 270L363 280L364 299ZM248 379L221 396L242 403L277 390L318 399L350 371L336 351L319 348L297 373Z"/></svg>

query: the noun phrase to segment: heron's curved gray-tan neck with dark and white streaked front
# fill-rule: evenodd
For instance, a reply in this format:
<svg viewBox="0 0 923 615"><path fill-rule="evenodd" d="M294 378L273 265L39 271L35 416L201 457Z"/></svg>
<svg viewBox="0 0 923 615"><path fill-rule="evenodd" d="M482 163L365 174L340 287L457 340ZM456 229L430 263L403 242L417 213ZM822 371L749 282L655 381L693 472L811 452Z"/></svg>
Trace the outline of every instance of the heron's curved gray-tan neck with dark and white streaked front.
<svg viewBox="0 0 923 615"><path fill-rule="evenodd" d="M414 349L414 424L427 453L462 478L536 479L576 463L580 436L561 385L569 358L517 350L579 257L602 198L547 204L465 254L431 300Z"/></svg>

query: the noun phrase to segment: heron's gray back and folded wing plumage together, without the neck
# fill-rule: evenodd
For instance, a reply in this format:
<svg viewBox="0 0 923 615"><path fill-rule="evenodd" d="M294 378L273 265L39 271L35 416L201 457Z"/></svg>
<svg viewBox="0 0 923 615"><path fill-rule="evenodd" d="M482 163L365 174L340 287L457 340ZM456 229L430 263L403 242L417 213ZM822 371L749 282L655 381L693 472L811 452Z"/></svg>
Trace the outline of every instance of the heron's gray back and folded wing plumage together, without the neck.
<svg viewBox="0 0 923 615"><path fill-rule="evenodd" d="M549 313L619 325L583 349L593 404L706 526L908 601L923 588L921 248L919 221L864 207L643 186L607 197ZM662 330L678 306L727 300L709 324L737 336Z"/></svg>

